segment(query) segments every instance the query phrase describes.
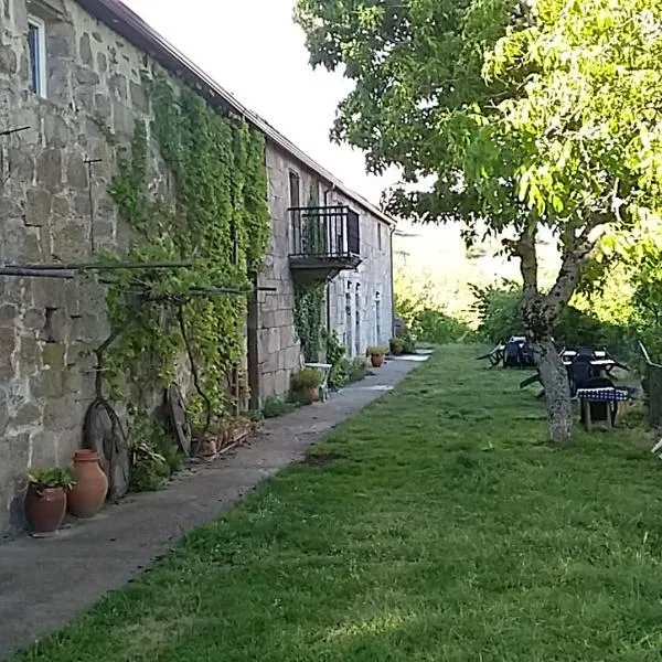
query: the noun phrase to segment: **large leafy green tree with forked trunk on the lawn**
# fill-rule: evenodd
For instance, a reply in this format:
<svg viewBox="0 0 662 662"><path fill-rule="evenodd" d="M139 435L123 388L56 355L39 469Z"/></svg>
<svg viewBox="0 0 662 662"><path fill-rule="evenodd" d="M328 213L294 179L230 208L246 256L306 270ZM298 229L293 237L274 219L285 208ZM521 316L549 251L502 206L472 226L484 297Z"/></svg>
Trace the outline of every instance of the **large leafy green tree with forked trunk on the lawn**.
<svg viewBox="0 0 662 662"><path fill-rule="evenodd" d="M658 212L662 0L298 0L296 19L311 64L355 83L333 137L402 169L389 211L520 259L551 437L569 439L552 329L600 237ZM562 254L548 291L543 228Z"/></svg>

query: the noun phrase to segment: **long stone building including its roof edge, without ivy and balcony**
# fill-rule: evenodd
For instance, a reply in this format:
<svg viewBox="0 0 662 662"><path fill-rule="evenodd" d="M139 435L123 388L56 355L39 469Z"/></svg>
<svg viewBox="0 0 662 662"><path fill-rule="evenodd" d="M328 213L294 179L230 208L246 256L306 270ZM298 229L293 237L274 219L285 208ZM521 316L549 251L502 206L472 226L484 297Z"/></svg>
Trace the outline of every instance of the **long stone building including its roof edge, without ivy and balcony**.
<svg viewBox="0 0 662 662"><path fill-rule="evenodd" d="M0 2L0 265L95 260L131 232L108 186L142 77L161 67L266 140L270 244L249 305L253 403L288 391L301 364L297 284L325 284L324 321L351 356L392 334L393 221L243 107L118 0ZM161 173L167 178L167 173ZM311 204L314 203L314 204ZM310 209L314 206L314 210ZM317 237L314 246L310 235ZM109 333L106 291L85 279L0 276L0 532L29 467L65 465Z"/></svg>

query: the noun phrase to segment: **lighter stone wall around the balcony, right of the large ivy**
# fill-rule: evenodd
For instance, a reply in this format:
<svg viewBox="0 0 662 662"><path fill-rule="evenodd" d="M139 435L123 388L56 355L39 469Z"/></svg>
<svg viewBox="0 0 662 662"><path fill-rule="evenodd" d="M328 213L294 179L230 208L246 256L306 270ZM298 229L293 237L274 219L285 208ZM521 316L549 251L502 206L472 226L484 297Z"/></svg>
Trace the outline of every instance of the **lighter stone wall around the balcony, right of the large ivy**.
<svg viewBox="0 0 662 662"><path fill-rule="evenodd" d="M356 270L342 271L328 285L328 301L324 302L323 311L328 328L338 331L348 348L348 354L353 357L363 355L369 345L388 344L393 323L391 227L356 202L332 191L314 173L302 169L291 158L270 147L267 148L267 168L271 242L260 285L275 287L278 291L276 295L259 295L259 394L263 399L286 394L291 374L299 370L301 361L293 319L295 290L288 258L292 241L288 213L290 172L296 172L300 178L302 206L308 204L310 191L316 190L320 204L324 204L325 199L325 204L349 205L360 213L362 263ZM348 293L351 295L349 316Z"/></svg>

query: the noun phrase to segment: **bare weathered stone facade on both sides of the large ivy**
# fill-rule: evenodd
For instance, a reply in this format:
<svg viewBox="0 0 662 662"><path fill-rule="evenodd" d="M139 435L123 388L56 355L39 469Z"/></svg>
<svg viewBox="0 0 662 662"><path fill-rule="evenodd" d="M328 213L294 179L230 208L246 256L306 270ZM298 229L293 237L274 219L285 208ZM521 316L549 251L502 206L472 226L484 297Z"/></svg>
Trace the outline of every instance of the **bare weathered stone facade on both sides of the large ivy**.
<svg viewBox="0 0 662 662"><path fill-rule="evenodd" d="M29 14L45 26L45 98L30 87ZM95 260L95 253L128 247L131 233L118 218L108 185L135 120L150 118L142 76L153 64L143 47L120 36L117 21L98 20L75 0L0 2L0 134L26 127L0 136L0 264ZM330 188L323 173L275 147L268 135L267 167L273 233L259 285L277 292L258 295L260 398L286 393L300 362L288 263L289 170L300 173L302 195L311 184L320 195ZM163 193L168 173L158 158L151 170ZM391 233L383 220L348 202L362 213L365 255L356 273L331 284L329 310L331 327L343 338L345 293L360 285L363 331L352 345L362 352L391 335ZM369 303L377 291L380 338ZM93 350L109 333L105 297L105 287L92 277L0 277L0 533L26 470L66 465L81 444L94 397Z"/></svg>

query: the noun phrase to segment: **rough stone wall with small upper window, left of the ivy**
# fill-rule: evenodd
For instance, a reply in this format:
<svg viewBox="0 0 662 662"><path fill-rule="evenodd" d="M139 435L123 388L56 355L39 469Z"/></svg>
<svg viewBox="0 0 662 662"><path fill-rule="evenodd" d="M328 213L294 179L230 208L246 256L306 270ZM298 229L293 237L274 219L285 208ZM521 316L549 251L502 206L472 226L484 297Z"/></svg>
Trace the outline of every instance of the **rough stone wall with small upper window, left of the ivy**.
<svg viewBox="0 0 662 662"><path fill-rule="evenodd" d="M29 11L45 23L46 98L30 90ZM93 238L97 253L128 247L108 184L135 120L150 116L150 68L73 0L0 3L0 132L29 127L0 137L0 263L96 260ZM160 185L168 173L152 156ZM98 161L90 179L86 160ZM105 297L92 277L0 277L0 533L28 468L66 465L82 441Z"/></svg>

